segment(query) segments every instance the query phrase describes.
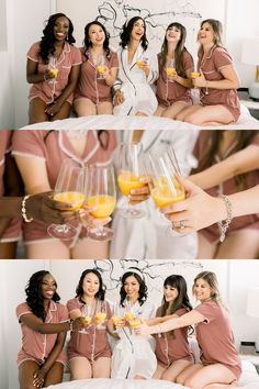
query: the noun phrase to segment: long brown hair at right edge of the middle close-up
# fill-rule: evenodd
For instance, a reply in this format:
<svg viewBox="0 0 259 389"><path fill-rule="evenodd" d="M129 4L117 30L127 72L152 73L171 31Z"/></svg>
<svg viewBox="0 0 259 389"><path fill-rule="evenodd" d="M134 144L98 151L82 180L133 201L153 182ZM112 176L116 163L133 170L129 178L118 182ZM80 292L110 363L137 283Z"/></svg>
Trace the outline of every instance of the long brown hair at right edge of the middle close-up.
<svg viewBox="0 0 259 389"><path fill-rule="evenodd" d="M204 154L201 156L199 165L195 169L192 170L192 174L200 173L215 163L215 154L218 152L221 142L223 141L224 131L226 130L202 130L206 131L210 134L209 142L204 149ZM233 155L251 143L254 137L258 135L258 130L235 130L236 131L236 145L232 148L229 155ZM247 174L241 174L235 176L235 182L240 189L245 189Z"/></svg>

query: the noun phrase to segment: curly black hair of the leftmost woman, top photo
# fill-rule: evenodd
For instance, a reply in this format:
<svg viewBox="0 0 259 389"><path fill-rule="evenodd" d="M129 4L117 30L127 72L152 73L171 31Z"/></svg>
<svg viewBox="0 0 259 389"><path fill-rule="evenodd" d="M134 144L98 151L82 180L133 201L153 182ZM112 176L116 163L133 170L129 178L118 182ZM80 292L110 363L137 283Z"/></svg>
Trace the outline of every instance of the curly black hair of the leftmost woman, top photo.
<svg viewBox="0 0 259 389"><path fill-rule="evenodd" d="M56 40L55 40L55 35L54 35L54 26L55 26L55 23L58 18L66 18L69 22L69 30L68 30L66 41L70 45L72 45L76 42L75 37L72 36L74 25L72 25L72 22L70 21L70 19L65 13L60 13L60 12L50 15L48 18L48 20L46 21L46 26L43 30L43 36L42 36L42 41L40 43L40 47L41 47L40 55L41 55L44 64L48 64L49 54L53 55L55 52L54 43Z"/></svg>

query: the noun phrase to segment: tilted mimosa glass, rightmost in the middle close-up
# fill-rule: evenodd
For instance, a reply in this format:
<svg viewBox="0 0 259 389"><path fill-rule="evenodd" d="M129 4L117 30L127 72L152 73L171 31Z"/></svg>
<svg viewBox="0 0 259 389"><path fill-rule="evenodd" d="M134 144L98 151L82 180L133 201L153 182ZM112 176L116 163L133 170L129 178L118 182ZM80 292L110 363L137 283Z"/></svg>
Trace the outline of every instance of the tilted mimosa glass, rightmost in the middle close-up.
<svg viewBox="0 0 259 389"><path fill-rule="evenodd" d="M173 148L164 155L148 153L145 160L146 171L149 176L150 194L157 208L184 200L184 188L178 180L180 167ZM177 233L177 235L180 235ZM180 235L182 236L182 234Z"/></svg>

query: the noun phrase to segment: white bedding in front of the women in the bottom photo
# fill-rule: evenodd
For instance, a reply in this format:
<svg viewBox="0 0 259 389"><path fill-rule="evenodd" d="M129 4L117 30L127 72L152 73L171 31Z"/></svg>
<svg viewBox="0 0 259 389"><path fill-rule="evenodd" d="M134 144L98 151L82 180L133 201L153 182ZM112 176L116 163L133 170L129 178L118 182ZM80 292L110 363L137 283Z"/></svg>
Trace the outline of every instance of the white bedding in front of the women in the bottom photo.
<svg viewBox="0 0 259 389"><path fill-rule="evenodd" d="M169 381L149 379L149 380L132 380L132 379L82 379L72 382L63 382L53 385L48 389L188 389L182 385ZM243 375L240 386L236 389L259 389L259 376L255 366L248 360L243 362Z"/></svg>

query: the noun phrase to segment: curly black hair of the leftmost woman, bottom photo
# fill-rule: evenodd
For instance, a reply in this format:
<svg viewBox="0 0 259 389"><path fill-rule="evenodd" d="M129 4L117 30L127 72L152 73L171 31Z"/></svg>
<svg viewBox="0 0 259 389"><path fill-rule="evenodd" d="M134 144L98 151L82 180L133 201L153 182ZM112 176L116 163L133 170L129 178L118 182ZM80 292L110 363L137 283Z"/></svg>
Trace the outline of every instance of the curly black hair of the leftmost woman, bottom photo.
<svg viewBox="0 0 259 389"><path fill-rule="evenodd" d="M37 316L41 318L43 321L46 319L46 312L44 308L44 299L42 296L42 282L45 276L50 275L47 270L40 270L34 273L25 288L26 293L26 303L31 308L32 312ZM57 286L57 284L56 284ZM53 301L57 302L60 300L60 297L55 291L53 294Z"/></svg>

